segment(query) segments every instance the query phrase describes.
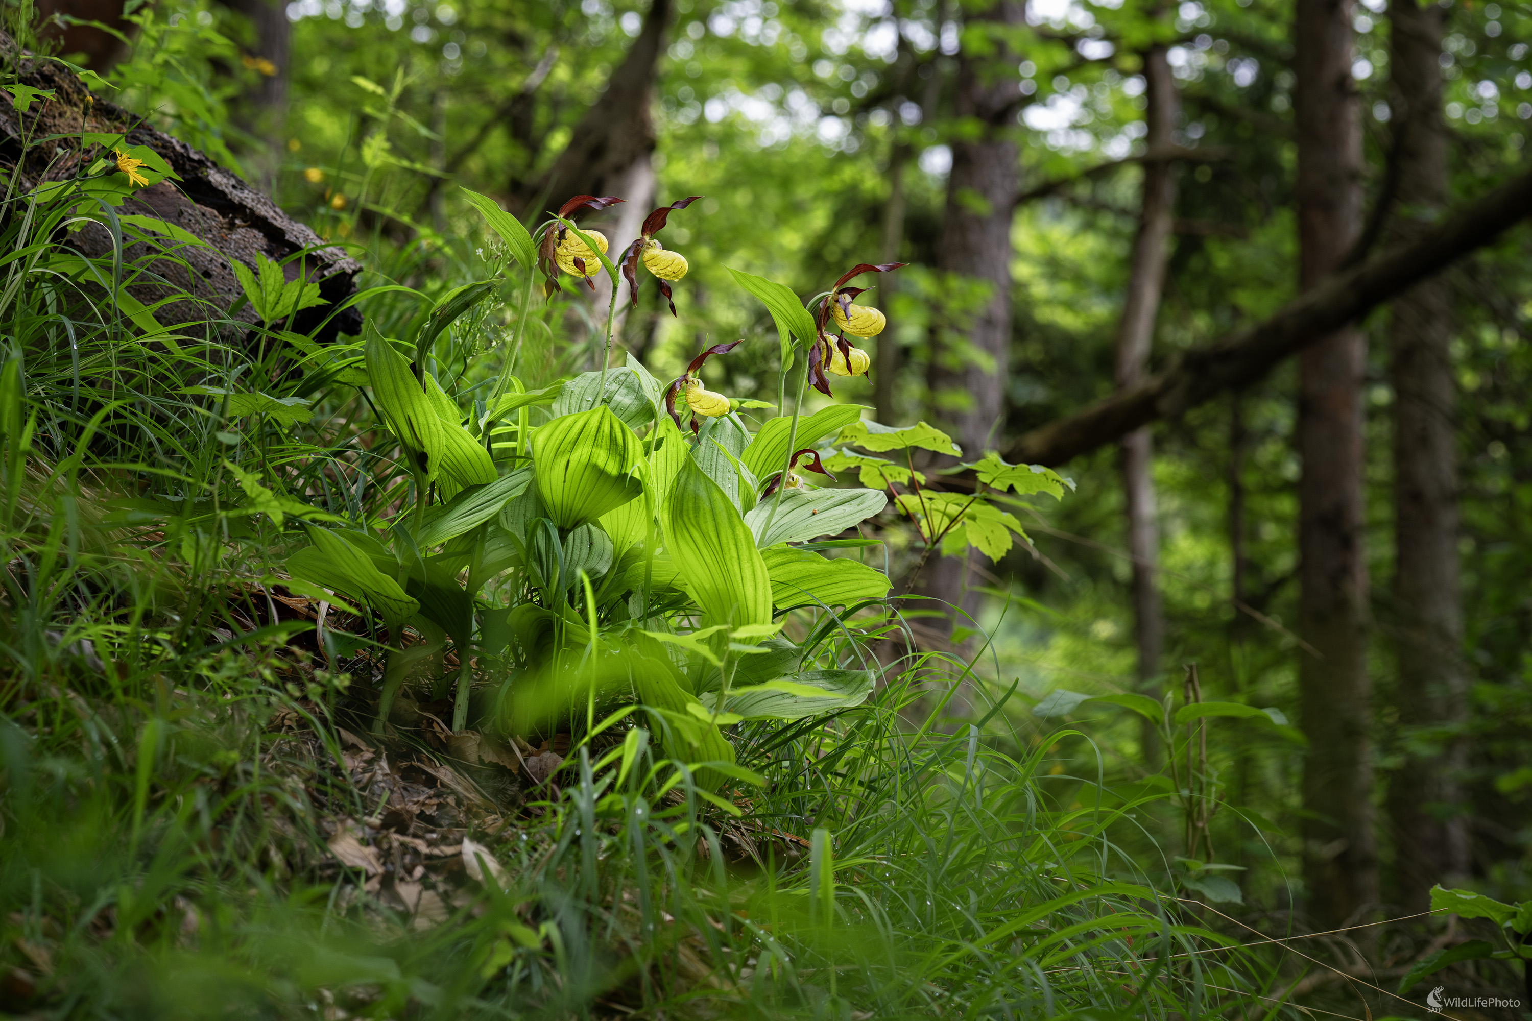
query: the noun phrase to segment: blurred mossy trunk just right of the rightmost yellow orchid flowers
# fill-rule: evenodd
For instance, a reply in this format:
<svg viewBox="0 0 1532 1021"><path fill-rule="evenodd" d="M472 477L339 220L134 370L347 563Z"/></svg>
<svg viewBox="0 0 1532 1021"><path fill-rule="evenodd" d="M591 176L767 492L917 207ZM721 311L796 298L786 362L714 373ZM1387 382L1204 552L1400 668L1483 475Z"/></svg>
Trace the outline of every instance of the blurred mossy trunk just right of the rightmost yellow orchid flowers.
<svg viewBox="0 0 1532 1021"><path fill-rule="evenodd" d="M1014 72L1016 55L1003 31L1023 24L1025 6L999 0L967 15L965 35L999 29L991 46L980 52L958 54L954 113L973 126L973 133L951 145L953 164L947 178L947 208L936 242L936 268L942 272L977 277L990 285L985 303L971 309L968 351L935 352L931 390L939 396L961 398L959 410L947 413L953 441L964 456L977 458L985 445L996 444L1005 415L1005 381L1011 346L1011 222L1020 182L1019 156L1010 133L1022 90ZM1002 70L1002 67L1005 70ZM961 614L974 614L977 594L967 589L968 562L962 557L933 557L919 579L921 594L951 605ZM956 700L954 700L956 701ZM961 706L953 706L961 713Z"/></svg>

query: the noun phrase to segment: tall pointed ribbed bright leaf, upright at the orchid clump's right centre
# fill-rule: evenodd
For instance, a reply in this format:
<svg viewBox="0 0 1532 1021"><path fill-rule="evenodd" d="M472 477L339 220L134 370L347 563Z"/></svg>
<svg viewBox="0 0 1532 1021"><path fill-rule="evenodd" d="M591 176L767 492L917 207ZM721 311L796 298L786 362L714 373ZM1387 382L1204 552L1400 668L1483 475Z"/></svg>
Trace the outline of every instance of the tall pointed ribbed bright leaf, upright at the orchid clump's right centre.
<svg viewBox="0 0 1532 1021"><path fill-rule="evenodd" d="M771 579L751 530L691 458L676 476L666 513L671 557L708 623L771 623Z"/></svg>

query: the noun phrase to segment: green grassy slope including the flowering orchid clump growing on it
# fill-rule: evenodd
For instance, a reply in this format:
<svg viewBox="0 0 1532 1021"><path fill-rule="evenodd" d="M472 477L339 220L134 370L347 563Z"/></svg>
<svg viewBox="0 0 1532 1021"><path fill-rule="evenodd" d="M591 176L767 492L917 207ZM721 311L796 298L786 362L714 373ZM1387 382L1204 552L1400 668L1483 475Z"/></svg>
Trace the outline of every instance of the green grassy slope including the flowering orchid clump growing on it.
<svg viewBox="0 0 1532 1021"><path fill-rule="evenodd" d="M487 262L362 251L363 335L322 343L274 263L230 308L176 292L202 242L84 167L0 213L0 1007L1262 1003L1264 964L1121 850L1167 785L1049 775L1007 692L947 716L984 683L919 651L878 536L913 536L896 572L997 557L1005 501L1065 484L974 452L977 493L922 488L938 430L801 413L852 361L821 332L843 285L885 268L806 305L735 274L780 331L774 406L706 392L720 351L666 390L607 354L610 308L581 335L535 294L578 207L529 233L470 196Z"/></svg>

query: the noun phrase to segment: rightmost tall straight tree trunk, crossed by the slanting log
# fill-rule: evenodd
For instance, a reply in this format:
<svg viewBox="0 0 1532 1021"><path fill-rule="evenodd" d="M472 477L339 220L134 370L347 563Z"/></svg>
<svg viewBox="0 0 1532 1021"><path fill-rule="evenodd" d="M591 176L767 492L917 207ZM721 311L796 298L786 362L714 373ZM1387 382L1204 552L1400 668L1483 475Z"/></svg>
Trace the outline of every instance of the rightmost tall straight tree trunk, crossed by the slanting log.
<svg viewBox="0 0 1532 1021"><path fill-rule="evenodd" d="M1448 138L1442 122L1442 23L1434 3L1390 6L1394 159L1402 216L1391 233L1413 240L1448 199ZM1451 288L1425 280L1394 302L1390 335L1394 383L1394 595L1397 600L1399 726L1443 727L1466 713L1463 605L1457 560L1457 433ZM1388 791L1397 876L1406 911L1431 906L1432 883L1468 874L1468 833L1458 775L1462 741L1405 762Z"/></svg>

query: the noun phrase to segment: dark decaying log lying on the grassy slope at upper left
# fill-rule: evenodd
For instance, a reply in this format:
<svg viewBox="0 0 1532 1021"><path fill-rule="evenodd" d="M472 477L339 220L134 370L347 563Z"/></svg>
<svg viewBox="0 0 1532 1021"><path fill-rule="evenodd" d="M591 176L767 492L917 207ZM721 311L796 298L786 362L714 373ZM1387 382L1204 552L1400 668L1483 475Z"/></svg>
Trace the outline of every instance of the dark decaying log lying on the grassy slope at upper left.
<svg viewBox="0 0 1532 1021"><path fill-rule="evenodd" d="M0 32L0 58L9 63L14 54L15 43ZM21 113L12 106L11 96L0 92L0 168L20 175L18 191L49 181L70 179L81 170L81 164L95 161L101 147L81 148L75 139L83 132L123 132L127 145L153 148L179 175L181 181L165 179L141 188L119 208L121 213L162 219L211 245L211 250L187 246L178 251L178 259L188 263L192 272L175 260L161 259L153 271L165 283L130 288L133 297L146 303L178 291L198 298L156 309L155 315L161 323L169 326L225 314L244 294L228 259L254 268L257 254L282 260L308 250L306 256L290 262L285 272L290 280L302 272L317 282L326 305L299 312L293 323L297 331L306 332L319 325L331 314L334 303L355 292L355 274L362 266L340 248L325 245L308 225L279 210L267 194L245 184L236 173L219 167L181 139L142 124L127 110L92 96L84 83L63 64L23 58L20 67L23 84L52 90L54 96L34 101ZM112 251L112 237L104 228L87 227L74 236L72 243L90 257ZM149 253L138 251L136 245L124 251L129 260L144 254ZM236 318L256 323L248 305ZM360 328L360 317L348 309L332 318L319 338L332 340L337 332L354 334Z"/></svg>

